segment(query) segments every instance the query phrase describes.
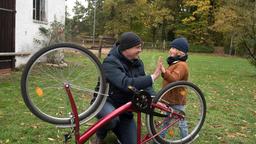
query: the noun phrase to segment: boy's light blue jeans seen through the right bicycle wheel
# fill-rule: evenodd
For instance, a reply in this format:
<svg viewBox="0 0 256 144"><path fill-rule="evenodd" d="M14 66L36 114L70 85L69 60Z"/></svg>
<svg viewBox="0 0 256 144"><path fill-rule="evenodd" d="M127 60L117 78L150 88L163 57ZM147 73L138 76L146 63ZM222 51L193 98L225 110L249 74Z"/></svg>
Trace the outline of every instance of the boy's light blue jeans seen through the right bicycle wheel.
<svg viewBox="0 0 256 144"><path fill-rule="evenodd" d="M184 105L172 105L171 107L177 110L185 111ZM171 120L172 119L168 119L164 121L163 127L167 127L170 124ZM180 137L181 138L186 137L188 135L188 124L185 119L179 122L179 128L180 128ZM162 137L165 137L166 134L167 134L167 130L164 130L160 135Z"/></svg>

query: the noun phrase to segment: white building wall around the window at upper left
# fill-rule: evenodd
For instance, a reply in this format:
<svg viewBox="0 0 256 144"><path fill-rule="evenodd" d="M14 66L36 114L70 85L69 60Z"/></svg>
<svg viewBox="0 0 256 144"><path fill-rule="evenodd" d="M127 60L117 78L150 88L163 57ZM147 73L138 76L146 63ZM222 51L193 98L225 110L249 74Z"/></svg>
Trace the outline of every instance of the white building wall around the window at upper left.
<svg viewBox="0 0 256 144"><path fill-rule="evenodd" d="M33 20L33 0L16 0L16 11L16 53L28 52L32 55L39 50L34 43L34 38L40 39L38 30L40 26L49 27L54 18L65 23L65 0L46 0L47 23ZM26 64L30 56L16 56L15 66Z"/></svg>

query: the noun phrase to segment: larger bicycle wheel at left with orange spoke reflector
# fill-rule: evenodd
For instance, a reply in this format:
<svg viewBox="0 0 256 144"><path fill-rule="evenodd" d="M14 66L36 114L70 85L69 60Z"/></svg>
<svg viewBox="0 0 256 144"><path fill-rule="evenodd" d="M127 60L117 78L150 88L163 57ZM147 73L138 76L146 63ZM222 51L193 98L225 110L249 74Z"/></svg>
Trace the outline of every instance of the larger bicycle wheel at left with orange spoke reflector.
<svg viewBox="0 0 256 144"><path fill-rule="evenodd" d="M80 122L94 117L106 101L100 61L89 50L71 43L43 48L29 59L21 78L23 100L43 121L69 126L72 110L64 84L70 85ZM91 101L93 97L96 99Z"/></svg>

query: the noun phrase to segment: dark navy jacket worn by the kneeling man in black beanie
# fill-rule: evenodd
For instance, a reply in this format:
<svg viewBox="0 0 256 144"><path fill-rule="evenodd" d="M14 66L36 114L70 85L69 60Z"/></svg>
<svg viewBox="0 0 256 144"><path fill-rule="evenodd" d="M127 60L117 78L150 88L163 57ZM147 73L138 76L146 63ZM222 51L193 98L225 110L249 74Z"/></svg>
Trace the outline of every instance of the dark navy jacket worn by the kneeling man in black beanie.
<svg viewBox="0 0 256 144"><path fill-rule="evenodd" d="M116 107L132 99L132 93L128 90L129 85L154 95L152 78L145 74L143 62L140 59L128 60L120 53L118 44L113 46L104 59L103 71L109 82L108 100Z"/></svg>

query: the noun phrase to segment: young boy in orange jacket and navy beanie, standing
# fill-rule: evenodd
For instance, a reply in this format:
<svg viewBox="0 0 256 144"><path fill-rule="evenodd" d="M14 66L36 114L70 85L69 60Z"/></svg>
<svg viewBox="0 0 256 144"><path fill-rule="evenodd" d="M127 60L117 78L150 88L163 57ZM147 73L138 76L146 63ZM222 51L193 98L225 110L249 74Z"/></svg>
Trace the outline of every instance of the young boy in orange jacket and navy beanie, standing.
<svg viewBox="0 0 256 144"><path fill-rule="evenodd" d="M169 57L167 58L168 68L161 65L163 87L175 81L187 81L189 76L188 65L186 60L188 58L188 41L185 38L177 38L170 43ZM175 88L163 96L169 105L180 111L185 111L187 91L185 88ZM168 126L171 119L164 123L164 127ZM179 123L180 136L182 138L188 135L187 121L184 119ZM163 131L162 137L167 133Z"/></svg>

